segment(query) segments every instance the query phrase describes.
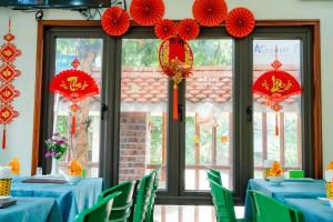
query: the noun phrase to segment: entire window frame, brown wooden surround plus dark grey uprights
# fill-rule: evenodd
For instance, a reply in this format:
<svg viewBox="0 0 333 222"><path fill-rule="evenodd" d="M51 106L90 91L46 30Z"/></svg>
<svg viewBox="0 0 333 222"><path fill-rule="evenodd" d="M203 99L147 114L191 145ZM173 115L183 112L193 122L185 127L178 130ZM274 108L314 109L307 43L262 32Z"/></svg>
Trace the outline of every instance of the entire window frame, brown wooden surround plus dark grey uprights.
<svg viewBox="0 0 333 222"><path fill-rule="evenodd" d="M119 115L120 115L120 81L121 81L121 38L129 38L135 36L135 38L142 37L148 38L153 36L152 28L142 28L138 24L132 24L129 32L121 38L113 38L107 36L100 28L99 21L62 21L62 20L44 20L38 22L38 48L37 48L37 72L36 72L36 100L34 100L34 124L33 124L33 143L32 143L32 162L31 162L31 173L36 173L37 165L41 165L44 169L50 167L50 163L43 159L44 145L43 141L50 133L50 127L47 128L46 122L50 121L50 100L49 93L47 92L47 85L49 81L50 57L48 48L51 43L50 41L50 29L62 31L64 37L78 37L77 34L69 33L71 31L83 32L98 32L99 37L103 38L103 56L109 54L110 58L103 57L103 68L102 68L102 103L108 104L109 109L105 112L107 120L101 122L101 153L100 153L100 176L105 179L107 186L114 185L118 183L118 167L119 167ZM221 29L222 28L222 29ZM214 33L212 30L220 30L221 34L225 34L225 29L223 26L218 28L202 28L202 36L210 36ZM273 31L272 31L273 30ZM306 41L312 42L304 46L304 49L309 50L307 60L311 62L305 62L306 72L309 72L309 79L306 88L311 90L303 90L304 99L302 98L302 110L305 109L304 102L310 98L311 101L306 107L306 118L303 117L302 124L303 130L303 141L304 135L309 135L310 142L302 142L303 148L303 161L302 164L307 176L322 178L322 120L321 120L321 69L320 69L320 21L319 20L293 20L293 21L258 21L256 28L252 34L244 39L234 39L234 80L233 80L233 172L234 175L240 175L240 180L236 181L234 176L234 198L236 203L242 203L244 200L244 192L248 184L248 180L253 174L253 160L252 155L246 155L244 153L252 153L252 123L248 122L246 108L252 104L252 39L256 36L264 37L265 34L273 34L274 30L281 30L286 33L295 32L295 30L301 30L299 34L302 38L306 38ZM303 30L303 31L302 31ZM142 36L141 36L142 34ZM279 36L279 34L278 34ZM80 36L82 37L82 36ZM276 38L276 36L274 36ZM313 56L313 57L312 57ZM54 59L54 58L53 58ZM119 61L120 60L120 61ZM305 58L302 58L303 62ZM110 61L110 62L107 62ZM54 63L54 62L53 62ZM243 65L241 65L243 64ZM245 65L244 65L245 64ZM52 67L52 65L51 65ZM302 64L301 64L302 67ZM114 74L107 74L113 72ZM251 73L251 74L249 74ZM305 77L306 78L306 77ZM104 81L105 80L105 81ZM251 85L250 85L251 83ZM182 95L184 95L184 83L182 83L180 90ZM169 98L172 91L172 84L169 84ZM111 90L110 90L111 89ZM109 90L107 92L107 90ZM48 101L48 102L46 102ZM241 102L243 101L243 102ZM172 102L172 101L171 101ZM307 101L309 102L309 101ZM47 105L48 104L48 105ZM113 108L113 109L111 109ZM184 110L183 110L184 111ZM180 127L179 122L173 122L171 117L172 105L169 105L168 110L168 133L175 133L184 130L184 124ZM304 124L303 123L306 123ZM312 123L312 124L310 124ZM113 127L112 127L113 125ZM242 128L241 128L242 125ZM107 135L103 132L110 132ZM249 133L251 132L251 133ZM182 132L183 133L183 132ZM176 133L179 134L179 133ZM112 135L112 137L110 137ZM178 143L181 145L179 139L171 141L170 137L167 140L167 147ZM246 145L250 143L251 145ZM245 145L244 145L245 143ZM117 149L109 149L109 148ZM241 150L242 148L242 150ZM306 149L304 151L304 149ZM180 180L181 169L184 165L184 149L168 149L168 172L178 172L176 180L171 180L168 184L168 192L159 192L158 203L163 204L210 204L211 198L208 193L203 192L183 192L184 188L183 181ZM181 151L180 151L181 150ZM242 154L243 153L243 154ZM174 155L175 154L175 155ZM173 157L180 157L174 159ZM305 159L304 159L305 158ZM170 162L171 161L171 162ZM172 162L173 161L173 162ZM111 163L111 164L109 164ZM173 163L173 164L172 164ZM249 168L249 164L251 165ZM167 172L167 174L169 174ZM183 171L184 172L184 171ZM170 180L170 176L168 176ZM184 180L184 179L182 179ZM194 195L195 194L195 195Z"/></svg>

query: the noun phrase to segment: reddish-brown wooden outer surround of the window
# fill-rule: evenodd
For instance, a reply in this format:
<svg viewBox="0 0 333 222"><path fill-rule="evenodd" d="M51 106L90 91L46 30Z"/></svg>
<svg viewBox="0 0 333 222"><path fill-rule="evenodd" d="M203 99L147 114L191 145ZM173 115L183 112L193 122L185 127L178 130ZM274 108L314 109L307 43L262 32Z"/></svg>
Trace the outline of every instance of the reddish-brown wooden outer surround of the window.
<svg viewBox="0 0 333 222"><path fill-rule="evenodd" d="M139 27L131 23L132 27ZM34 92L34 114L33 114L33 138L32 138L32 160L31 173L36 173L39 164L40 147L41 147L41 114L42 114L42 89L44 73L44 33L50 27L100 27L100 21L82 21L82 20L44 20L38 22L37 39L37 60L36 60L36 92ZM321 179L323 171L323 152L322 152L322 100L321 100L321 43L320 43L320 20L259 20L256 27L275 27L275 28L293 28L307 27L312 29L312 144L314 160L311 171L314 178ZM238 40L236 40L238 41ZM112 170L114 171L114 169ZM117 171L118 172L118 171ZM238 173L238 172L236 172ZM115 175L117 178L117 175ZM175 184L176 185L176 184ZM172 202L167 200L165 203ZM180 201L181 202L181 201ZM184 201L189 203L189 201ZM200 202L198 202L200 203Z"/></svg>

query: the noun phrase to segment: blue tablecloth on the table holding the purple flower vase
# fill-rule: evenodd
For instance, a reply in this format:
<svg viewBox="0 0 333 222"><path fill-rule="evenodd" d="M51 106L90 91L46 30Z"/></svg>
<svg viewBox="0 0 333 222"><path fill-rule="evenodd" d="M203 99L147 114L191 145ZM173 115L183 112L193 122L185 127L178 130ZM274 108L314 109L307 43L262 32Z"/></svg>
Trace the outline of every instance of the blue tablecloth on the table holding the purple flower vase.
<svg viewBox="0 0 333 222"><path fill-rule="evenodd" d="M12 183L11 195L56 199L64 222L73 221L82 210L92 206L103 190L103 179L82 179L77 184Z"/></svg>

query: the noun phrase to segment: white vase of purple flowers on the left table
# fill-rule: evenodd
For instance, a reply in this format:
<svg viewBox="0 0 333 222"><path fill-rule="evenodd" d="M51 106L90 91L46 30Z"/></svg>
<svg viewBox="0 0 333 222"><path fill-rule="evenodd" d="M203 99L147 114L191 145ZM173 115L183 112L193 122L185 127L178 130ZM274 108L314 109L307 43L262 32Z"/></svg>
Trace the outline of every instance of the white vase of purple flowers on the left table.
<svg viewBox="0 0 333 222"><path fill-rule="evenodd" d="M49 140L46 141L47 153L46 158L52 158L51 175L59 175L58 160L61 160L64 153L68 151L70 144L68 139L61 137L59 133L54 133Z"/></svg>

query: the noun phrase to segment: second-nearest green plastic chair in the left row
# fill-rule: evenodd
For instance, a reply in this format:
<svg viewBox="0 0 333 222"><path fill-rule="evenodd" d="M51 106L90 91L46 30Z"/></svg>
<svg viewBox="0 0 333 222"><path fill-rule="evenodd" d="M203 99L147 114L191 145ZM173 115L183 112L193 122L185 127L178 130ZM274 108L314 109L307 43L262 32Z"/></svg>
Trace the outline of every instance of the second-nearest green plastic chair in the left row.
<svg viewBox="0 0 333 222"><path fill-rule="evenodd" d="M127 222L131 215L133 195L137 189L137 181L127 181L103 191L99 195L99 201L112 195L115 192L121 192L121 195L117 196L113 201L112 211L109 218L109 222Z"/></svg>

